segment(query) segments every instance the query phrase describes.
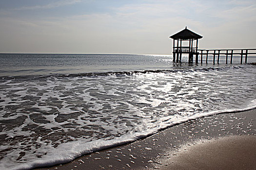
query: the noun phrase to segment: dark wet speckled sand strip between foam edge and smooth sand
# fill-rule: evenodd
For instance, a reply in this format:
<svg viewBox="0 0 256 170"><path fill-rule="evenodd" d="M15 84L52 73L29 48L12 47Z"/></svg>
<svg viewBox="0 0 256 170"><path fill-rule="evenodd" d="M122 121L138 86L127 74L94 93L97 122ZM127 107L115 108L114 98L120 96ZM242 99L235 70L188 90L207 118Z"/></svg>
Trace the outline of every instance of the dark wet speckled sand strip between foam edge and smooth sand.
<svg viewBox="0 0 256 170"><path fill-rule="evenodd" d="M255 119L256 109L193 119L130 144L87 154L64 165L36 170L166 169L173 164L169 160L184 151L184 147L219 137L256 136Z"/></svg>

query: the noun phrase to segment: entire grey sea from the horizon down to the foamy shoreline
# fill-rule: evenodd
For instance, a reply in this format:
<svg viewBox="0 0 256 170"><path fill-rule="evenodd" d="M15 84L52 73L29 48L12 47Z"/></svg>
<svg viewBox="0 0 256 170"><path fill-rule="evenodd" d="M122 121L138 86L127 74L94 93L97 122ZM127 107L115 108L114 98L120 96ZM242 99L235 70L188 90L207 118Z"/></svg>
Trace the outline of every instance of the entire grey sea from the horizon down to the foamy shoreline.
<svg viewBox="0 0 256 170"><path fill-rule="evenodd" d="M186 59L0 54L0 169L64 163L189 119L256 108L256 66Z"/></svg>

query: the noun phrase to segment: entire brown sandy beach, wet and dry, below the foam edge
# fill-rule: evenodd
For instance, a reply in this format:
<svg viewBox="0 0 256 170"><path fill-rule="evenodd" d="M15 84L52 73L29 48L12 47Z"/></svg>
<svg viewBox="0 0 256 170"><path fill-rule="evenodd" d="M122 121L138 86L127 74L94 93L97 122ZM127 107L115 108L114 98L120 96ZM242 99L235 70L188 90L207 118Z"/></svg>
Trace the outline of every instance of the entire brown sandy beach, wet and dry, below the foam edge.
<svg viewBox="0 0 256 170"><path fill-rule="evenodd" d="M39 170L256 170L256 109L190 120Z"/></svg>

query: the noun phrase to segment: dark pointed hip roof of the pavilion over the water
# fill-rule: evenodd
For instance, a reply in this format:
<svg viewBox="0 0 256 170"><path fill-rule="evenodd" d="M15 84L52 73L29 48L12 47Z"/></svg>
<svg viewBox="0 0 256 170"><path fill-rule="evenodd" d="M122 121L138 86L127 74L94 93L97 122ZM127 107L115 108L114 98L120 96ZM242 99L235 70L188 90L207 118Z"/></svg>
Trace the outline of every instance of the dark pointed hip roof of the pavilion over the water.
<svg viewBox="0 0 256 170"><path fill-rule="evenodd" d="M202 38L202 36L190 31L186 27L184 30L170 36L170 38L186 40L186 39L200 39Z"/></svg>

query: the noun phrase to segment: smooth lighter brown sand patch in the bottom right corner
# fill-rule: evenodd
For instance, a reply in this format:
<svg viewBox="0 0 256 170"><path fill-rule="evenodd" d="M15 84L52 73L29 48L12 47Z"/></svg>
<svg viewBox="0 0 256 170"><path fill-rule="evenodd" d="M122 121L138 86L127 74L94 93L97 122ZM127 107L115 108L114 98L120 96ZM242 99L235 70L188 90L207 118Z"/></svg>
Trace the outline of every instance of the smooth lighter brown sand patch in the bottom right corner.
<svg viewBox="0 0 256 170"><path fill-rule="evenodd" d="M163 170L255 170L256 136L228 136L184 147Z"/></svg>

